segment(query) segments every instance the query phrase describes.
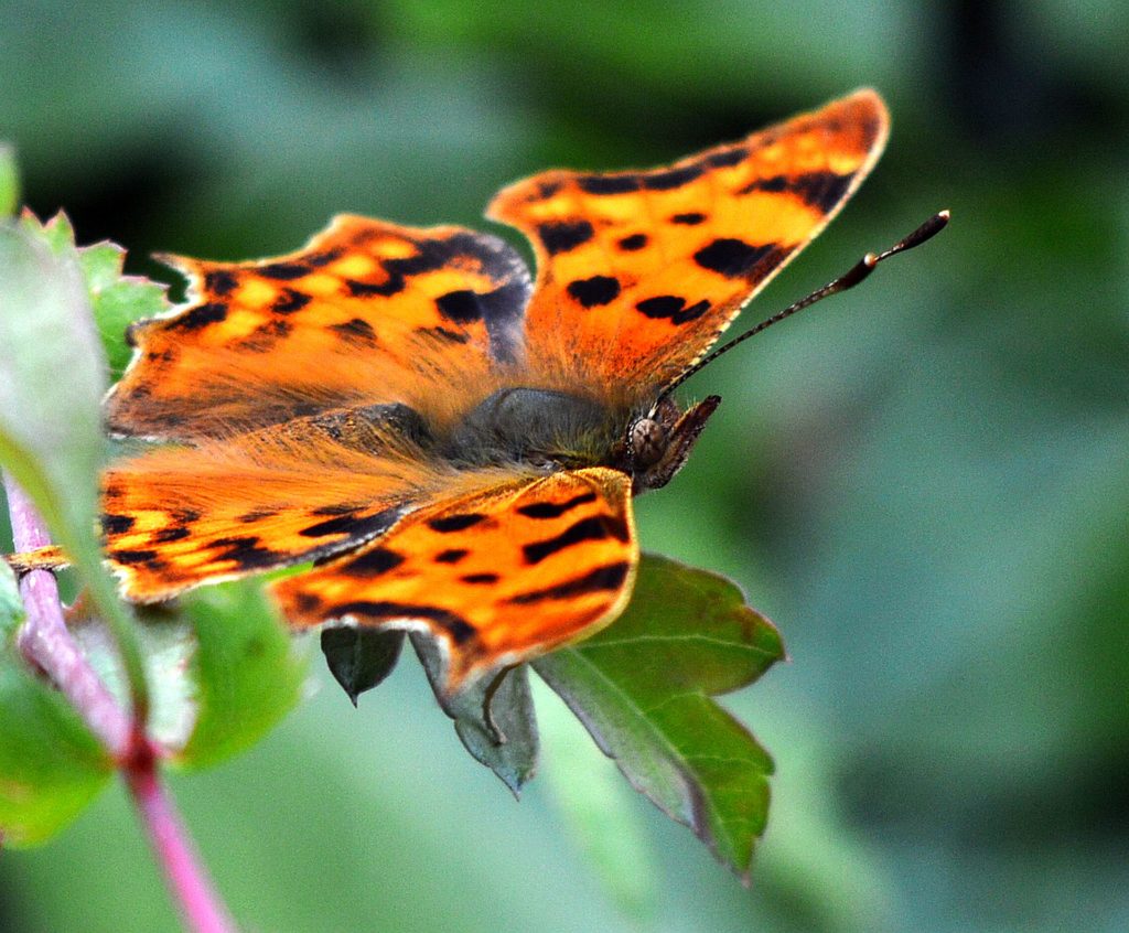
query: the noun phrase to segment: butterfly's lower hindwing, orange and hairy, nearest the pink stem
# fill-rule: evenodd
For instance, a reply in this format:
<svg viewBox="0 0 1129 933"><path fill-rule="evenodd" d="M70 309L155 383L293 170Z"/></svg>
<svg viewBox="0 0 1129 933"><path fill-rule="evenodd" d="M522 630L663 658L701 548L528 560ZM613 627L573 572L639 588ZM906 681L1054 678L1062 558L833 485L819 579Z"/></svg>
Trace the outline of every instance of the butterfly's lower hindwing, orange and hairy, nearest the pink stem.
<svg viewBox="0 0 1129 933"><path fill-rule="evenodd" d="M466 482L377 407L161 447L102 479L106 557L131 600L324 557Z"/></svg>

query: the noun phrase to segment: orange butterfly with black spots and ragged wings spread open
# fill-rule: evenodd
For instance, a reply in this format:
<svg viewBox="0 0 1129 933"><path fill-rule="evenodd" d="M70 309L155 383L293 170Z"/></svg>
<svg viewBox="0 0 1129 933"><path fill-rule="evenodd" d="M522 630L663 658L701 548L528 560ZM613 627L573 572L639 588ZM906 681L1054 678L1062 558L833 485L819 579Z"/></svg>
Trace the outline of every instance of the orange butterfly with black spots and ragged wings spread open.
<svg viewBox="0 0 1129 933"><path fill-rule="evenodd" d="M859 90L650 171L545 172L498 237L341 216L255 262L164 256L189 304L131 326L102 480L124 596L291 565L296 628L432 636L454 689L611 622L665 486L720 401L671 387L840 210L886 140Z"/></svg>

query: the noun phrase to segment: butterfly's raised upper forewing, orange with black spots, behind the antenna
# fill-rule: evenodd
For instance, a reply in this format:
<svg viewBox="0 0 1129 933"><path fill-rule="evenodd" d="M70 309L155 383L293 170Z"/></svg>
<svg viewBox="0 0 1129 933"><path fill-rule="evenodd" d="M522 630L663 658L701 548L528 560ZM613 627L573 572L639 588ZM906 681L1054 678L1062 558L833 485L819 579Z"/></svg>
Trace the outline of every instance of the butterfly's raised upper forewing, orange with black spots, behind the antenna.
<svg viewBox="0 0 1129 933"><path fill-rule="evenodd" d="M531 369L634 398L671 382L834 217L887 127L882 98L860 90L666 168L504 189L488 216L537 255Z"/></svg>

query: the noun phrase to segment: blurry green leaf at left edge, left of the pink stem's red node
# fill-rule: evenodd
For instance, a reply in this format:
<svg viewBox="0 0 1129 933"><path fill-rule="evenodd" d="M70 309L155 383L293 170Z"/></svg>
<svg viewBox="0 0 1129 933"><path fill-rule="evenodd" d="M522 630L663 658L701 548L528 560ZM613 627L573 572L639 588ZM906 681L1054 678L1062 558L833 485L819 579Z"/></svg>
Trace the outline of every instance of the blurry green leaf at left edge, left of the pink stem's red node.
<svg viewBox="0 0 1129 933"><path fill-rule="evenodd" d="M16 579L0 561L0 842L42 843L102 790L113 768L63 697L16 648Z"/></svg>

